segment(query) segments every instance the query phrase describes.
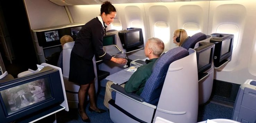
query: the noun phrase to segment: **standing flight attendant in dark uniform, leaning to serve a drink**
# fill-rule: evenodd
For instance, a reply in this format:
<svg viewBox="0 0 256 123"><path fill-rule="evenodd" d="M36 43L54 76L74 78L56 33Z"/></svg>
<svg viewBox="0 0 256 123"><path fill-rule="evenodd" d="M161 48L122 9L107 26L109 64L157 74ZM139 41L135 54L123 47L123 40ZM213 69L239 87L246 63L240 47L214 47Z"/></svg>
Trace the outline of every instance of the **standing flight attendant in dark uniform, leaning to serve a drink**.
<svg viewBox="0 0 256 123"><path fill-rule="evenodd" d="M103 51L102 40L105 33L105 24L110 25L116 14L116 9L109 1L103 2L100 16L87 22L79 31L70 55L69 81L80 85L78 91L78 113L84 122L90 122L84 107L87 92L90 100L89 111L105 112L105 110L99 109L96 105L93 56L99 56L102 60L110 60L118 64L127 62L126 59L114 58Z"/></svg>

